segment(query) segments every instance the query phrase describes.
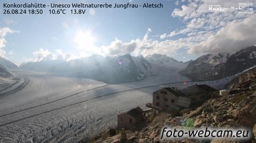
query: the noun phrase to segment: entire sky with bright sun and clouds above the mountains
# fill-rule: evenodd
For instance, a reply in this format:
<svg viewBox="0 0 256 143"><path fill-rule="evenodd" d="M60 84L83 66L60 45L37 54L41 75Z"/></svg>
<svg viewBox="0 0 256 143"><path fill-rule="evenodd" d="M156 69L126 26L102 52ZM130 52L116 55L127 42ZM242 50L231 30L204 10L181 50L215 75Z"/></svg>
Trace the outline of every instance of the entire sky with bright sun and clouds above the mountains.
<svg viewBox="0 0 256 143"><path fill-rule="evenodd" d="M87 8L84 15L49 15L47 9L43 15L4 15L5 2L8 1L0 1L0 56L18 65L127 53L144 57L165 54L178 61L189 61L207 53L233 53L256 44L255 12L209 10L209 5L230 8L238 7L239 2L256 4L256 0L76 1L163 4L163 8Z"/></svg>

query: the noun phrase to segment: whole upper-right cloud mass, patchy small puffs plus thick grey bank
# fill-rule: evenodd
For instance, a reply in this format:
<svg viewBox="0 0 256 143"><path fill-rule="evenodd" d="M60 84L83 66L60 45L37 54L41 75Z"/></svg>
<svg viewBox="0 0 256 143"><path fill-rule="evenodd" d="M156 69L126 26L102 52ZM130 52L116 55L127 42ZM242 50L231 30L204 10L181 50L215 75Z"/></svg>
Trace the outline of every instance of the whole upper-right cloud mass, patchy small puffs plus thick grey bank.
<svg viewBox="0 0 256 143"><path fill-rule="evenodd" d="M238 10L210 12L209 5L232 7L235 1L188 1L188 4L175 8L173 17L179 17L185 27L177 28L169 34L160 35L160 39L172 38L183 41L182 48L189 54L232 53L255 44L255 14L243 14ZM177 42L177 40L175 42Z"/></svg>

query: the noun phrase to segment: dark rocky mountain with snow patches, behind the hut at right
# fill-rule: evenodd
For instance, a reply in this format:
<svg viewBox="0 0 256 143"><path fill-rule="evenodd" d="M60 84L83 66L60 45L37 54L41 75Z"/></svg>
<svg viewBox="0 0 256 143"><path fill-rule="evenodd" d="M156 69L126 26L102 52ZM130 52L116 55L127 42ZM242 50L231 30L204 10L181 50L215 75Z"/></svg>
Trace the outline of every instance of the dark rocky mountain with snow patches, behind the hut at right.
<svg viewBox="0 0 256 143"><path fill-rule="evenodd" d="M244 48L233 55L219 53L200 56L180 71L194 81L208 81L235 75L256 65L256 47Z"/></svg>

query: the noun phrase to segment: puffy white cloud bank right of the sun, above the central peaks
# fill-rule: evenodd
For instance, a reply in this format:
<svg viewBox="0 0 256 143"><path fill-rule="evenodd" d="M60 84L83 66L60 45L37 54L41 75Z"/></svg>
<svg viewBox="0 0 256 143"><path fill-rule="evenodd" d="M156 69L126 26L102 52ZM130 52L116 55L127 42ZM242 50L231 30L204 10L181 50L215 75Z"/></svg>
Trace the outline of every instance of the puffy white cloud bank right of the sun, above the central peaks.
<svg viewBox="0 0 256 143"><path fill-rule="evenodd" d="M177 49L183 47L181 41L157 41L149 38L151 28L143 36L143 38L132 39L130 42L123 42L119 39L115 39L110 45L102 46L102 50L106 55L119 56L130 53L134 56L148 56L154 53L162 53L171 55L176 53Z"/></svg>

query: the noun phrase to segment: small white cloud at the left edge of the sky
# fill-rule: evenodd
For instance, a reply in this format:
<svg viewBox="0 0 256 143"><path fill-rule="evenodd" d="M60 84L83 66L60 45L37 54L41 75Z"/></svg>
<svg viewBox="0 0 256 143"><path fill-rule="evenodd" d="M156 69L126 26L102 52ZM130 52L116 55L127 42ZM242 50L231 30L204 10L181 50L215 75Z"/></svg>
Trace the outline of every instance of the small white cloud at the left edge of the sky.
<svg viewBox="0 0 256 143"><path fill-rule="evenodd" d="M2 27L0 28L0 56L4 56L5 55L5 50L3 50L2 48L5 47L6 45L6 40L5 40L5 36L7 35L7 33L15 33L18 31L12 30L9 27Z"/></svg>

